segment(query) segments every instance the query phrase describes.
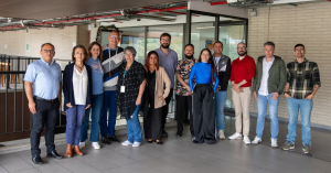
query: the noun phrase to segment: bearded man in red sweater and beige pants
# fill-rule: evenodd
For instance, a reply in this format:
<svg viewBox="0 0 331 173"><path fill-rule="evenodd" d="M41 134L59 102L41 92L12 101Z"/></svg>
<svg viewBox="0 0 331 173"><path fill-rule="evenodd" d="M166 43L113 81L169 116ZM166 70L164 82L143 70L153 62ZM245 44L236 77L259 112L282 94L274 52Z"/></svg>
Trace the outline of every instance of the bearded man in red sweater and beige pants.
<svg viewBox="0 0 331 173"><path fill-rule="evenodd" d="M252 78L255 76L254 58L247 55L245 43L237 45L239 57L233 61L231 71L232 100L235 107L236 132L228 139L242 139L242 125L244 123L243 133L244 142L250 144L249 134L249 102Z"/></svg>

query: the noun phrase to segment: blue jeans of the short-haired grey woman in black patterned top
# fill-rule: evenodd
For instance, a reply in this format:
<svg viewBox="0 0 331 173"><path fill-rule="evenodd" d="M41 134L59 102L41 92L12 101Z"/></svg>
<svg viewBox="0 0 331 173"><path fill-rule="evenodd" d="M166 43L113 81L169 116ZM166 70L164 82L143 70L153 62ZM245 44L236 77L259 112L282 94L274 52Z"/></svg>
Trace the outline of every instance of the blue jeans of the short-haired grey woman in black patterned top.
<svg viewBox="0 0 331 173"><path fill-rule="evenodd" d="M142 102L142 99L141 99ZM142 141L142 131L140 127L140 121L138 118L140 106L137 106L136 110L134 111L132 116L129 120L127 120L127 128L128 128L128 141L134 142L141 142Z"/></svg>

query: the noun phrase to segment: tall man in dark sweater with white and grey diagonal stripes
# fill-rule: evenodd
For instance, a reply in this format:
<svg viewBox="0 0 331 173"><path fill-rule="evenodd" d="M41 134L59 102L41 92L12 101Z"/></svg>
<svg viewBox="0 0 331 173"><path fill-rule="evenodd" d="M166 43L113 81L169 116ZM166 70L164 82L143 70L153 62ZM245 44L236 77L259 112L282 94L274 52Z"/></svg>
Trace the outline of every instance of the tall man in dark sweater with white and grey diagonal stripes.
<svg viewBox="0 0 331 173"><path fill-rule="evenodd" d="M118 30L113 30L108 36L109 44L104 47L102 65L104 68L104 104L100 117L102 142L110 144L111 141L119 142L115 136L116 125L116 86L118 72L125 60L124 48L117 44L120 42ZM107 123L107 112L108 123Z"/></svg>

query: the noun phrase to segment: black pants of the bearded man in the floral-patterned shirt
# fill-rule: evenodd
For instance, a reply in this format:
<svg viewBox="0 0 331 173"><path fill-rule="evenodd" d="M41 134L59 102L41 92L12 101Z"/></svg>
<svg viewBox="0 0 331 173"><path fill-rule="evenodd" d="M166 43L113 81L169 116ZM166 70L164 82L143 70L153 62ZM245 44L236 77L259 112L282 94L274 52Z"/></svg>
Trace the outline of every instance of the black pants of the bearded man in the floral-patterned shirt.
<svg viewBox="0 0 331 173"><path fill-rule="evenodd" d="M183 121L188 117L188 112L190 113L190 131L191 134L194 136L193 130L193 113L192 113L192 96L179 96L175 95L175 102L177 102L177 132L183 132Z"/></svg>

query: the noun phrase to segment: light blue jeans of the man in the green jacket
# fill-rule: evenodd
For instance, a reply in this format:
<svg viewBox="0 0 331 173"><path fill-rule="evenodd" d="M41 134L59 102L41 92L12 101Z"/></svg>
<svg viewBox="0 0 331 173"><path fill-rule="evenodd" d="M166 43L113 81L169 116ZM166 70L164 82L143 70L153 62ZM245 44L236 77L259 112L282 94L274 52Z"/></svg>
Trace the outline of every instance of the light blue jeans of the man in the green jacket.
<svg viewBox="0 0 331 173"><path fill-rule="evenodd" d="M257 125L256 125L256 137L261 139L261 136L264 133L265 128L265 118L267 115L267 106L269 105L269 117L270 117L270 129L271 129L271 139L276 139L278 137L279 131L279 125L278 125L278 105L279 105L279 98L275 100L271 97L274 94L269 94L268 96L263 96L257 94L257 110L258 110L258 117L257 117Z"/></svg>

